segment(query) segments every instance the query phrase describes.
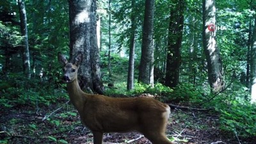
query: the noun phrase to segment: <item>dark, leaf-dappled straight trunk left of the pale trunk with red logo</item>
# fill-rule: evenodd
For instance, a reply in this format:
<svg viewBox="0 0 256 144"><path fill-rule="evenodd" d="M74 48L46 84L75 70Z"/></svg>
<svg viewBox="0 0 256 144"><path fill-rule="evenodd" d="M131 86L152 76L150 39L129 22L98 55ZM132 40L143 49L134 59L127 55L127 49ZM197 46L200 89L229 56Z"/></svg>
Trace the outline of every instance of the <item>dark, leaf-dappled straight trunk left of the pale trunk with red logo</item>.
<svg viewBox="0 0 256 144"><path fill-rule="evenodd" d="M184 1L175 0L170 11L168 52L166 58L165 85L170 87L175 87L179 83L183 23Z"/></svg>

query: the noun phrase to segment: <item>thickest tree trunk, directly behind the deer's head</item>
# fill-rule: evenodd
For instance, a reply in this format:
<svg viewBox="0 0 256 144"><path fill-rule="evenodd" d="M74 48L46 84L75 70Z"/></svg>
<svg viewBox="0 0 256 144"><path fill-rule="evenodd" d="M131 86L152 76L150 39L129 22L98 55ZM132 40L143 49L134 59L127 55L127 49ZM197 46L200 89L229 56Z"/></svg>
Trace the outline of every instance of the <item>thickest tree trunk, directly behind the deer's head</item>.
<svg viewBox="0 0 256 144"><path fill-rule="evenodd" d="M70 58L83 52L79 85L87 92L104 93L100 77L96 31L96 1L69 1Z"/></svg>

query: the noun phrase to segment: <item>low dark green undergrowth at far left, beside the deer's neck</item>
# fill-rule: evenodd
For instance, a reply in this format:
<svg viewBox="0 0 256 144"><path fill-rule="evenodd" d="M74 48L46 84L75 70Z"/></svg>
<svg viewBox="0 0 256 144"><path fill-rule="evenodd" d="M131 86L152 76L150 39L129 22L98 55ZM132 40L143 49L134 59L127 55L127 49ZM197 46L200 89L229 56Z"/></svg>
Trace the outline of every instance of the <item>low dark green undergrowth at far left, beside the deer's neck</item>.
<svg viewBox="0 0 256 144"><path fill-rule="evenodd" d="M52 83L54 84L54 83ZM0 104L5 108L13 106L49 106L58 99L67 99L67 93L62 93L63 88L55 90L48 87L40 79L24 79L22 74L12 73L0 80Z"/></svg>

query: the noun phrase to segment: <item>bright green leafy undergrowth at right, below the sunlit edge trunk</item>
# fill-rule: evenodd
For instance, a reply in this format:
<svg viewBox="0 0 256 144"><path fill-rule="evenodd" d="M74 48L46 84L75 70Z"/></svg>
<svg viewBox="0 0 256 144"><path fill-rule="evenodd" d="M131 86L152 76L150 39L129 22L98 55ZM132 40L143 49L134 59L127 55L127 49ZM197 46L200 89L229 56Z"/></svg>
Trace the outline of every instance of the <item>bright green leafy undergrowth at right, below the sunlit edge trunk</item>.
<svg viewBox="0 0 256 144"><path fill-rule="evenodd" d="M250 104L248 88L234 81L223 93L211 94L203 100L206 108L214 106L220 115L220 129L238 138L256 136L256 106Z"/></svg>

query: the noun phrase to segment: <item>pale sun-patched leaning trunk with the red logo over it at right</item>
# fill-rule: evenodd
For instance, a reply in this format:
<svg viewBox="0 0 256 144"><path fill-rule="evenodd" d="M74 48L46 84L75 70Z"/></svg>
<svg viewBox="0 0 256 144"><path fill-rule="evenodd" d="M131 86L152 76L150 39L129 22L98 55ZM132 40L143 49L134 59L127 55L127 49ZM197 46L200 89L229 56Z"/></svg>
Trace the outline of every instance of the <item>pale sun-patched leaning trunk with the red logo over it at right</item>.
<svg viewBox="0 0 256 144"><path fill-rule="evenodd" d="M216 42L215 0L203 1L203 46L207 60L208 81L212 92L220 92L225 87L220 51Z"/></svg>

